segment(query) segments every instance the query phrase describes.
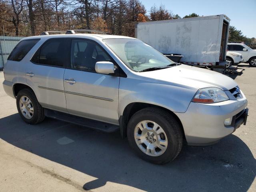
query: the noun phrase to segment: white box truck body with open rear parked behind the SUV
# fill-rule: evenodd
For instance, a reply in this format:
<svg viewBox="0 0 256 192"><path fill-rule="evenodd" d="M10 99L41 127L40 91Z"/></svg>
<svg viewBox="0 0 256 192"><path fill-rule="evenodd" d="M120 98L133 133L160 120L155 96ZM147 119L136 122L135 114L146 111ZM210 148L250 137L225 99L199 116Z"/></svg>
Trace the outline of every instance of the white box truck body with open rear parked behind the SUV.
<svg viewBox="0 0 256 192"><path fill-rule="evenodd" d="M226 15L141 22L135 37L162 54L181 54L188 65L225 66L230 19Z"/></svg>

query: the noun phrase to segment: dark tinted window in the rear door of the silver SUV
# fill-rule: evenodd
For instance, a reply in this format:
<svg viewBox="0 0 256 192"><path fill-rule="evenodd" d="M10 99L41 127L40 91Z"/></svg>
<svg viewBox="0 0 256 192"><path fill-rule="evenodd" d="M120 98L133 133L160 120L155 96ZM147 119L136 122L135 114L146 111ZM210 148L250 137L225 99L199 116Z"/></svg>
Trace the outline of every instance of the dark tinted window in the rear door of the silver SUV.
<svg viewBox="0 0 256 192"><path fill-rule="evenodd" d="M51 39L44 43L31 59L36 64L64 67L69 60L69 40Z"/></svg>

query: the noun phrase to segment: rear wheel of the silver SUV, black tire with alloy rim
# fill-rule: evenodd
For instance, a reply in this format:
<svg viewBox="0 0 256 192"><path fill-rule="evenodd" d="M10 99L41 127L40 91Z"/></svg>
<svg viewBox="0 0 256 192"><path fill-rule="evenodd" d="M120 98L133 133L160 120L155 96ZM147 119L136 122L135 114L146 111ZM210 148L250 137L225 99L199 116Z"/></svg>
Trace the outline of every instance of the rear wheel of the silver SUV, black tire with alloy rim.
<svg viewBox="0 0 256 192"><path fill-rule="evenodd" d="M37 124L44 120L44 109L31 89L22 89L18 92L16 105L22 120L26 123Z"/></svg>

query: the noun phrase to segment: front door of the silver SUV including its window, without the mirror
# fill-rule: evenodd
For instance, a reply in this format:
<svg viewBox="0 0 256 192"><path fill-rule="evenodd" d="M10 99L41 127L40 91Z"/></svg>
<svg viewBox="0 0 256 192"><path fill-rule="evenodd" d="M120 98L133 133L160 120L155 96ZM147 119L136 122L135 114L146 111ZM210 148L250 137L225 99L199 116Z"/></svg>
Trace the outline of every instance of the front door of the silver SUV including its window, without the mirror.
<svg viewBox="0 0 256 192"><path fill-rule="evenodd" d="M98 43L72 40L71 65L64 74L67 110L73 115L118 124L120 77L96 73L98 61L114 62Z"/></svg>

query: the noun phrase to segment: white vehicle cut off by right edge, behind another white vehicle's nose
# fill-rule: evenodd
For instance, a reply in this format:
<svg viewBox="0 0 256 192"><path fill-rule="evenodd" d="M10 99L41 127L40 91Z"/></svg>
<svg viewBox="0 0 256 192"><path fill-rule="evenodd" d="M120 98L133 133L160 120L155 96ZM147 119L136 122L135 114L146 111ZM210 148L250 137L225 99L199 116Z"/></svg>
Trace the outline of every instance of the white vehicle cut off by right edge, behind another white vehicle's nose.
<svg viewBox="0 0 256 192"><path fill-rule="evenodd" d="M250 66L256 67L256 50L242 43L228 43L228 51L242 54L244 63L249 63Z"/></svg>

